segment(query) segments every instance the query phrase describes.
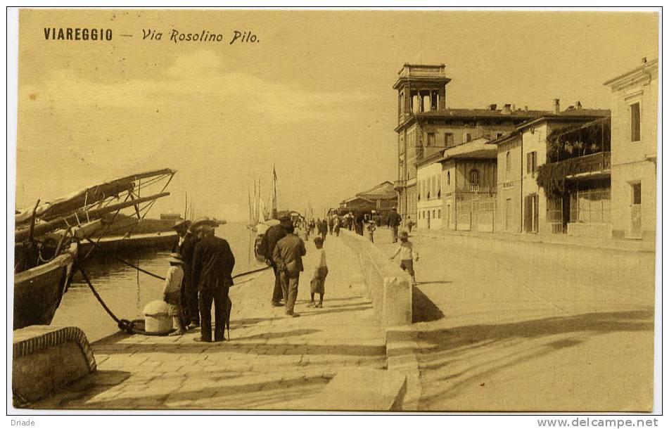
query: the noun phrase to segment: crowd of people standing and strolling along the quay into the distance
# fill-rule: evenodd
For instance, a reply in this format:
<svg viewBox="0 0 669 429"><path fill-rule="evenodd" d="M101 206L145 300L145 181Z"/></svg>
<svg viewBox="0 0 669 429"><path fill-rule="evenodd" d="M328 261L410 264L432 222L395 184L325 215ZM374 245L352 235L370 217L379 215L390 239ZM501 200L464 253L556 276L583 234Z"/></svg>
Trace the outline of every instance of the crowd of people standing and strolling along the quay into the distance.
<svg viewBox="0 0 669 429"><path fill-rule="evenodd" d="M400 243L391 260L400 255L400 267L412 276L416 283L414 262L419 255L413 243L409 241L407 231L399 231L402 217L396 210L388 216L388 226L393 234L393 243ZM369 240L374 243L374 231L381 224L379 217L365 218L363 215L348 214L343 217L331 216L329 219L298 219L281 217L279 223L269 227L262 236L257 252L274 271L274 286L270 305L285 307L286 316L298 317L295 301L298 296L300 275L305 271L302 257L307 254L305 240L313 238L316 264L310 279L310 307L322 308L325 295L325 280L328 275L324 243L330 235L338 236L341 228L348 228L359 235L367 230ZM409 221L409 225L411 222ZM225 328L229 330L232 302L229 297L233 286L232 271L235 258L229 243L215 236L217 222L201 218L191 224L180 220L174 224L179 240L172 248L168 258L170 267L165 275L163 300L167 304L168 314L172 316L174 331L170 335L182 335L188 330L200 328L198 341L211 342L225 339ZM296 233L299 226L304 240ZM412 226L412 225L411 225ZM411 227L409 226L409 228ZM318 302L315 301L319 295ZM212 324L211 311L214 309Z"/></svg>

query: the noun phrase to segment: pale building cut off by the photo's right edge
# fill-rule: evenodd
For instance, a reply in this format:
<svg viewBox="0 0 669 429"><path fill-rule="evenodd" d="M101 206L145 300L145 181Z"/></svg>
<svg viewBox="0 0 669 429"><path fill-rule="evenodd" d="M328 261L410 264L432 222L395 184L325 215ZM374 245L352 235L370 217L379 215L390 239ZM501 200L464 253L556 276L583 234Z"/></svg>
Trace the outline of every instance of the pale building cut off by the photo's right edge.
<svg viewBox="0 0 669 429"><path fill-rule="evenodd" d="M654 241L658 60L605 82L611 88L611 233Z"/></svg>

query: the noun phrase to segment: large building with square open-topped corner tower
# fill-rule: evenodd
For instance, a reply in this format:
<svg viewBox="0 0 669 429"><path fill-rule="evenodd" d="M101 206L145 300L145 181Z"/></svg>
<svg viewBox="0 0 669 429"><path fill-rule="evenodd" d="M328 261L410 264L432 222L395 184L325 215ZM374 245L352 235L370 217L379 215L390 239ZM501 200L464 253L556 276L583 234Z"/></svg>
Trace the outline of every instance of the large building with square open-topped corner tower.
<svg viewBox="0 0 669 429"><path fill-rule="evenodd" d="M404 64L397 82L397 181L398 207L403 219L417 218L417 165L435 153L480 138L497 139L518 124L544 111L516 109L447 108L445 65ZM426 209L425 209L426 210Z"/></svg>

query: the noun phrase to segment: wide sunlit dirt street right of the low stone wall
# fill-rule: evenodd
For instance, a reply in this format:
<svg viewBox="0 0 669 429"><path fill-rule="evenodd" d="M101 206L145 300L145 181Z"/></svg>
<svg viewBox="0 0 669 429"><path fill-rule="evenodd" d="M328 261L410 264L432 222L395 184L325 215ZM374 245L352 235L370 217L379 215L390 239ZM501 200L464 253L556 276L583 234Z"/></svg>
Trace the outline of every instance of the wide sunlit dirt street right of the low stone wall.
<svg viewBox="0 0 669 429"><path fill-rule="evenodd" d="M390 255L388 230L376 236ZM421 255L419 409L651 409L654 254L416 231L410 240Z"/></svg>

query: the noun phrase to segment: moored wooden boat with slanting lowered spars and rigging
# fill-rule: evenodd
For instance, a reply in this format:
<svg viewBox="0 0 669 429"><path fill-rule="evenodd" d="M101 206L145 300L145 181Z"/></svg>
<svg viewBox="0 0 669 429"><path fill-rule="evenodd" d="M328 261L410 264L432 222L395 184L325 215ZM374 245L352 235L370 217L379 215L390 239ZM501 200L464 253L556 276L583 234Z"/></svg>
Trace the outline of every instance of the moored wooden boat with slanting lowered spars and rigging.
<svg viewBox="0 0 669 429"><path fill-rule="evenodd" d="M95 243L113 232L117 214L124 209L132 208L139 224L155 200L170 195L165 188L175 173L159 169L132 174L49 203L38 200L33 210L16 212L13 329L51 324L75 264L94 251L90 245L83 252L80 243ZM144 190L154 186L163 188L147 195Z"/></svg>

